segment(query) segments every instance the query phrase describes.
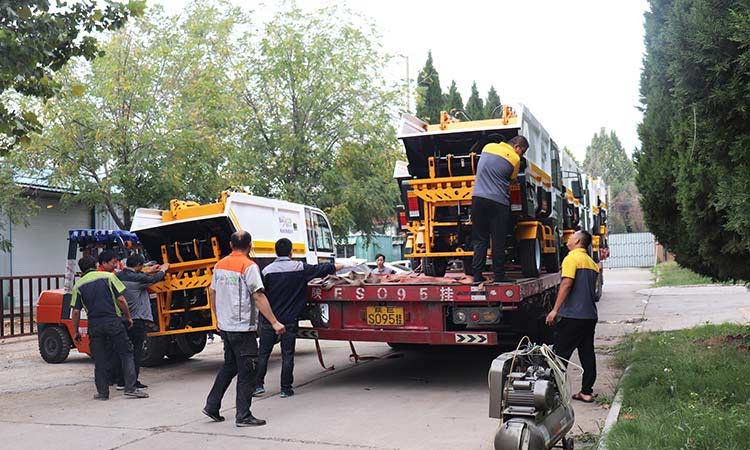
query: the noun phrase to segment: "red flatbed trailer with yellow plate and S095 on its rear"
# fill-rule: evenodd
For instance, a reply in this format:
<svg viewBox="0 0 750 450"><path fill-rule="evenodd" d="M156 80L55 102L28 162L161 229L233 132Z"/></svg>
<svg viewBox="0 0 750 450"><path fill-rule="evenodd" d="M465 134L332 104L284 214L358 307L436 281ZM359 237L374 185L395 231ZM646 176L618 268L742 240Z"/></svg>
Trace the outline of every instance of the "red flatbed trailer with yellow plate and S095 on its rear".
<svg viewBox="0 0 750 450"><path fill-rule="evenodd" d="M509 276L513 277L513 273ZM549 342L544 323L560 285L559 273L483 287L438 283L308 286L313 327L308 339L398 344L494 346L524 335ZM416 278L418 279L418 278Z"/></svg>

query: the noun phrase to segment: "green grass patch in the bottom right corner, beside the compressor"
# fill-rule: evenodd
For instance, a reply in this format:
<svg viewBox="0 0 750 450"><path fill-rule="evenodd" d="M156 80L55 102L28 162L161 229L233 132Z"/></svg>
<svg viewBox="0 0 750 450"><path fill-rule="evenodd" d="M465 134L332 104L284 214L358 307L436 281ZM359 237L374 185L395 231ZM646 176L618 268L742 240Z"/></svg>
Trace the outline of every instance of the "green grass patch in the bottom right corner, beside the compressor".
<svg viewBox="0 0 750 450"><path fill-rule="evenodd" d="M615 362L623 409L610 450L750 449L750 327L707 325L629 336Z"/></svg>

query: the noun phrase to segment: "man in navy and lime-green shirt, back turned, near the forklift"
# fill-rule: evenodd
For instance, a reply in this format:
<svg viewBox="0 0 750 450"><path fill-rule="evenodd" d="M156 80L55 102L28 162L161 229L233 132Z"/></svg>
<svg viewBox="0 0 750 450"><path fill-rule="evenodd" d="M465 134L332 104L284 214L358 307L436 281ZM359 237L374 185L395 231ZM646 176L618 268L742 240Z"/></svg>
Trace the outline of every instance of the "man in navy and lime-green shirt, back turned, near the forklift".
<svg viewBox="0 0 750 450"><path fill-rule="evenodd" d="M86 309L88 320L89 343L91 356L94 358L94 382L97 400L109 399L109 352L120 356L125 377L125 395L134 398L146 398L148 394L135 387L135 367L133 366L133 345L128 339L126 326L133 326L128 303L123 297L125 286L110 272L96 270L96 260L84 256L78 261L83 275L73 285L70 306L73 309L73 339L81 340L78 328L81 320L81 308ZM126 324L122 318L125 317ZM111 346L111 347L110 347Z"/></svg>

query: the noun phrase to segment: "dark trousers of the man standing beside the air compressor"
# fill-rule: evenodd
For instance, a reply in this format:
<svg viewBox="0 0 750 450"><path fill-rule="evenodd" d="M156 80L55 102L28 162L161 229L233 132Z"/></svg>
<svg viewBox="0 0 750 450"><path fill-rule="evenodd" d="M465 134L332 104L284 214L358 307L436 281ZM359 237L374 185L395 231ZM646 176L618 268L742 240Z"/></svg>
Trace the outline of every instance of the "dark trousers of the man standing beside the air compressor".
<svg viewBox="0 0 750 450"><path fill-rule="evenodd" d="M596 319L570 319L563 317L555 325L555 353L570 359L573 350L578 350L578 359L583 367L581 393L591 395L596 381L596 354L594 353L594 330ZM565 363L567 367L568 363Z"/></svg>

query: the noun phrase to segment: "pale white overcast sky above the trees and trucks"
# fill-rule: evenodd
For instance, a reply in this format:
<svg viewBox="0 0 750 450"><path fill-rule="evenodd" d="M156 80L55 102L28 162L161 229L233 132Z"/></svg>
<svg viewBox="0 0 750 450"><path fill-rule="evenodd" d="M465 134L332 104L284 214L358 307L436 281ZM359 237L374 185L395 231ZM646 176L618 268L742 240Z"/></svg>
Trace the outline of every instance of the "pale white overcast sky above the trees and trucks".
<svg viewBox="0 0 750 450"><path fill-rule="evenodd" d="M277 4L232 1L262 12L260 18ZM189 0L158 2L178 12ZM298 0L305 9L329 3ZM409 57L412 80L432 50L444 90L455 79L466 101L472 81L483 98L494 85L503 103L524 103L558 145L567 145L580 160L600 127L614 130L628 153L640 147L636 129L646 0L347 4L379 26L386 51ZM405 78L406 60L401 60L397 76Z"/></svg>

